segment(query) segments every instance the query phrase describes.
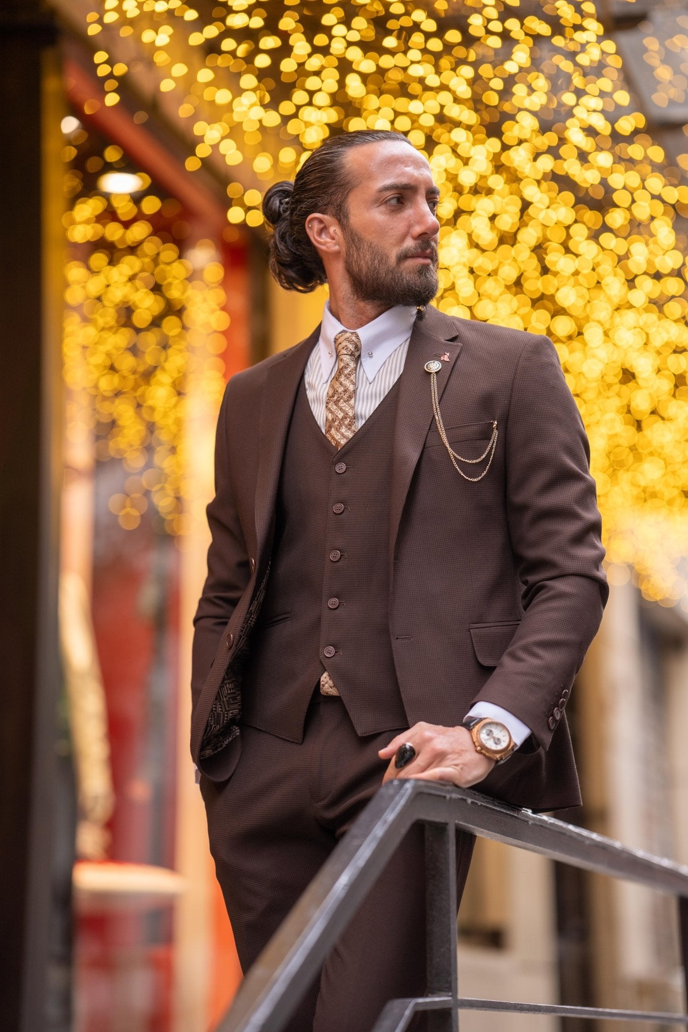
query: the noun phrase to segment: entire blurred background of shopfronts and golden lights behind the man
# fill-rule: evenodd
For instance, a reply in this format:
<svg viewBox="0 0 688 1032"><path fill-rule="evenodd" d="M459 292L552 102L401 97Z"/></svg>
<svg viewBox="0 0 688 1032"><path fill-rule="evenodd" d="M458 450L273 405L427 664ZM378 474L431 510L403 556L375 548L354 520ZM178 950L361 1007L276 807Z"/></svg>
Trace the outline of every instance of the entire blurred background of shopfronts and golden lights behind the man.
<svg viewBox="0 0 688 1032"><path fill-rule="evenodd" d="M688 6L5 0L0 30L0 1027L205 1032L238 985L191 619L224 384L326 297L272 283L261 193L331 132L429 157L443 311L557 347L612 582L562 816L688 863ZM479 843L459 936L468 995L681 1006L668 901L533 854Z"/></svg>

